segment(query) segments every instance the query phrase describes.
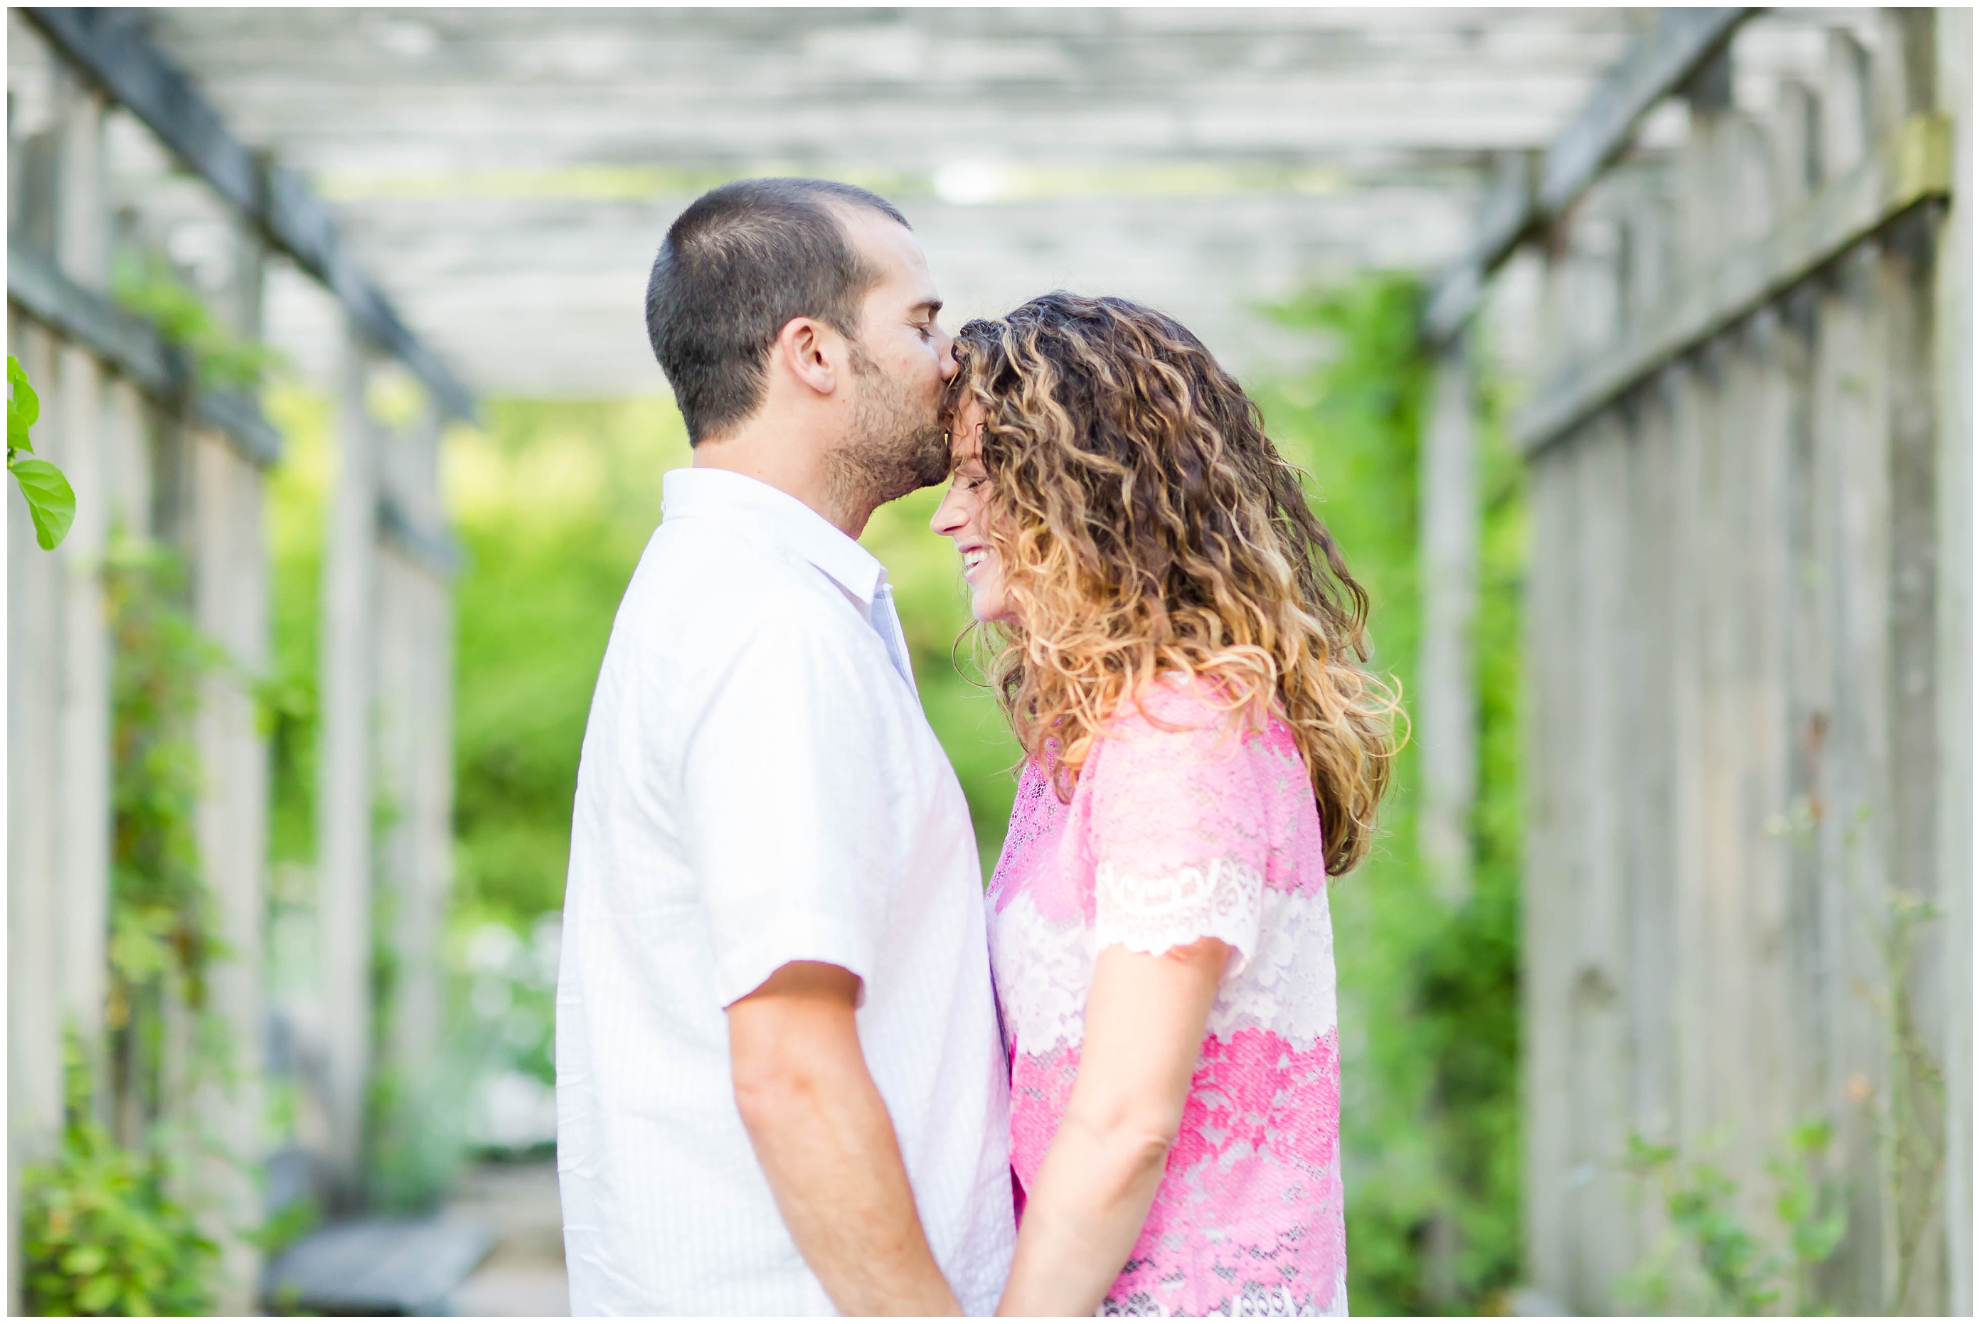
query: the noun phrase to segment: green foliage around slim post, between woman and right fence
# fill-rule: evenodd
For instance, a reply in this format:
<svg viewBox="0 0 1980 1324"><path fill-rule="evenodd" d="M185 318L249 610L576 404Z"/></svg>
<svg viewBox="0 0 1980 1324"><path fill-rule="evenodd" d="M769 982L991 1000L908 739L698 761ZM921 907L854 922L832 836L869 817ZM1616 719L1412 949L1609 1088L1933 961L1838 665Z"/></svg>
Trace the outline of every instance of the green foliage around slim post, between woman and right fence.
<svg viewBox="0 0 1980 1324"><path fill-rule="evenodd" d="M1277 315L1331 354L1253 384L1281 451L1313 479L1368 590L1374 665L1404 699L1420 637L1418 437L1428 362L1414 279L1362 277ZM1501 388L1481 400L1485 497L1475 621L1479 802L1473 893L1447 906L1416 853L1418 756L1368 861L1333 887L1340 978L1340 1146L1356 1312L1489 1312L1519 1278L1519 576L1521 469Z"/></svg>

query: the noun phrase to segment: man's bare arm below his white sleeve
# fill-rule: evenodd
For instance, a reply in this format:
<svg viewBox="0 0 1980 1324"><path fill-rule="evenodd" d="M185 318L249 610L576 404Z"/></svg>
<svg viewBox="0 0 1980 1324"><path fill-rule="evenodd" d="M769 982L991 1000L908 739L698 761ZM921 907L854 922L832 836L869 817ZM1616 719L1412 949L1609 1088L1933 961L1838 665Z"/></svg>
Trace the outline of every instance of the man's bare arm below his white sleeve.
<svg viewBox="0 0 1980 1324"><path fill-rule="evenodd" d="M840 1314L962 1314L873 1087L859 978L792 962L729 1005L737 1108L792 1241Z"/></svg>

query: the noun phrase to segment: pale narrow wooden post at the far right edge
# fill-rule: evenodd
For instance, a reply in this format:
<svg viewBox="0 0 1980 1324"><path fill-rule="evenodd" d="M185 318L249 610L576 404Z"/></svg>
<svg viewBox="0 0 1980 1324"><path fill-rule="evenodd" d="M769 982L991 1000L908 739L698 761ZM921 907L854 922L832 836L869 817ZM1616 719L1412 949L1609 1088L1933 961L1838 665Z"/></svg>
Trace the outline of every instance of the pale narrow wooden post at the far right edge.
<svg viewBox="0 0 1980 1324"><path fill-rule="evenodd" d="M1952 119L1950 206L1938 226L1938 889L1946 980L1946 1314L1972 1296L1972 10L1936 10L1936 97Z"/></svg>

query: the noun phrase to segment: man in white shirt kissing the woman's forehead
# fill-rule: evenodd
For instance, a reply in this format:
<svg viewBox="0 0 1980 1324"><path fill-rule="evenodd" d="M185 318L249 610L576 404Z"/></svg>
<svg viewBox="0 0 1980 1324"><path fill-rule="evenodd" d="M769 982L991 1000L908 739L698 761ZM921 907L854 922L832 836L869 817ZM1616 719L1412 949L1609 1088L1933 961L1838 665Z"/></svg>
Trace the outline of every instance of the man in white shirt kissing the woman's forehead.
<svg viewBox="0 0 1980 1324"><path fill-rule="evenodd" d="M717 188L647 332L691 469L584 732L556 990L574 1314L988 1314L1008 1085L962 788L873 509L946 475L921 245L822 180Z"/></svg>

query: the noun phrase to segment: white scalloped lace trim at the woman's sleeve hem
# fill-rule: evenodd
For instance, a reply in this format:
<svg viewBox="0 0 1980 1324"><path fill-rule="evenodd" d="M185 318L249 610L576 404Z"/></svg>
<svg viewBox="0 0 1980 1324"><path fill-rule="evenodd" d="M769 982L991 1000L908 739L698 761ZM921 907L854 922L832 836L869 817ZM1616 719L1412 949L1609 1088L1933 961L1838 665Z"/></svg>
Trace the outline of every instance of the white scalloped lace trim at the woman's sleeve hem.
<svg viewBox="0 0 1980 1324"><path fill-rule="evenodd" d="M1093 944L1119 942L1129 952L1166 952L1218 938L1234 948L1226 978L1257 950L1265 875L1234 859L1176 869L1148 879L1103 861L1093 875Z"/></svg>

